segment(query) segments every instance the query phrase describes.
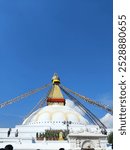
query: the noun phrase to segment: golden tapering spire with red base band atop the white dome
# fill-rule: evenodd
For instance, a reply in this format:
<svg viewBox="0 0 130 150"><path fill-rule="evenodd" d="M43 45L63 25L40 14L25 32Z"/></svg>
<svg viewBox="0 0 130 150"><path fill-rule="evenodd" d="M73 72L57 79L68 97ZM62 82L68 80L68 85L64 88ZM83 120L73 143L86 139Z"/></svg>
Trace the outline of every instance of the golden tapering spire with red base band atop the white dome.
<svg viewBox="0 0 130 150"><path fill-rule="evenodd" d="M47 105L54 105L54 104L65 105L65 99L59 87L60 78L56 73L54 73L52 77L52 84L53 87L48 95Z"/></svg>

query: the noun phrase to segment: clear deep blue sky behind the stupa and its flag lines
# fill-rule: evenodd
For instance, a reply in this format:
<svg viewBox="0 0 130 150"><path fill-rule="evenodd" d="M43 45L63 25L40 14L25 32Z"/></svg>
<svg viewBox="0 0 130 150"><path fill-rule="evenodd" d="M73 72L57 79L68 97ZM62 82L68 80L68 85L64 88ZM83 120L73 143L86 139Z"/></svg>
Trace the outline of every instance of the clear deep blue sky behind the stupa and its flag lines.
<svg viewBox="0 0 130 150"><path fill-rule="evenodd" d="M0 1L0 102L49 83L54 72L112 105L112 0ZM0 127L20 124L42 95L1 109Z"/></svg>

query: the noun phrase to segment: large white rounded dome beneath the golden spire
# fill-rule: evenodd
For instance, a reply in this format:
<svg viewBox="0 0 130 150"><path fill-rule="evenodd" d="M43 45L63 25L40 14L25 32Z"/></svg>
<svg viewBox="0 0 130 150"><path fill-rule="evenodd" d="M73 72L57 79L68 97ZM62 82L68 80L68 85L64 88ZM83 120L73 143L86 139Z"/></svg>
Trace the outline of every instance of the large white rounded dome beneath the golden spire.
<svg viewBox="0 0 130 150"><path fill-rule="evenodd" d="M88 121L78 112L68 106L49 105L38 109L23 122L23 125L47 125L47 123L62 123L71 121L72 124L87 125Z"/></svg>

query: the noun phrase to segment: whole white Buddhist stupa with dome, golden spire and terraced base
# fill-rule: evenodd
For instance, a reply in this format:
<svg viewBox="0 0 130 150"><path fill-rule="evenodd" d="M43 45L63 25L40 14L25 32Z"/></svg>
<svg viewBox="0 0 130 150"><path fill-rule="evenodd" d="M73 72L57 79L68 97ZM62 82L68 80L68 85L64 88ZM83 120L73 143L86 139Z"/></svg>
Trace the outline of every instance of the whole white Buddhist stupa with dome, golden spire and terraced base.
<svg viewBox="0 0 130 150"><path fill-rule="evenodd" d="M31 113L15 128L0 128L0 148L16 150L107 150L107 135L66 105L57 74L46 98L47 106Z"/></svg>

